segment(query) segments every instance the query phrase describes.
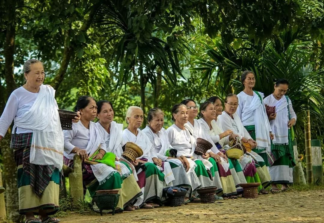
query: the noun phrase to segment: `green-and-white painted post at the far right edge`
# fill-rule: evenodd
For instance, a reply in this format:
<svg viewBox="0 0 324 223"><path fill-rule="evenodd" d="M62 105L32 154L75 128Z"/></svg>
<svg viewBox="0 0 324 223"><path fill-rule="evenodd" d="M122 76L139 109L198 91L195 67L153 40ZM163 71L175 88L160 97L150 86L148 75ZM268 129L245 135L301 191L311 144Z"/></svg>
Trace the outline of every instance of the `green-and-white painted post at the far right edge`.
<svg viewBox="0 0 324 223"><path fill-rule="evenodd" d="M315 184L324 184L321 141L313 139L310 141L312 151L313 177Z"/></svg>

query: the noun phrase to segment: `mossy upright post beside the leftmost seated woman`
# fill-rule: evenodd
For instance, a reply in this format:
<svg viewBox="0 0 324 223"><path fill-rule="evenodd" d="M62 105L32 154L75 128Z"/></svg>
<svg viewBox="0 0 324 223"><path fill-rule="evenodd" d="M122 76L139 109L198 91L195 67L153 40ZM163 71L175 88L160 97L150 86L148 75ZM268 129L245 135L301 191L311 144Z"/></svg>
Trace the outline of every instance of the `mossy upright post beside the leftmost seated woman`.
<svg viewBox="0 0 324 223"><path fill-rule="evenodd" d="M82 164L81 158L78 155L73 159L74 167L73 172L69 174L70 193L75 206L80 206L84 199L83 184L82 184Z"/></svg>

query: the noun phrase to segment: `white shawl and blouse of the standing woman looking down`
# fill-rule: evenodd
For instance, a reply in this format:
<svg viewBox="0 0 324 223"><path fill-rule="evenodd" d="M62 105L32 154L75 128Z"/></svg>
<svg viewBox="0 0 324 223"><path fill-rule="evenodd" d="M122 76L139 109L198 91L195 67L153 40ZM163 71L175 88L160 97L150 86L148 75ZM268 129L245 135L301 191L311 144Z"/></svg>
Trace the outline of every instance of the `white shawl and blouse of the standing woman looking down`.
<svg viewBox="0 0 324 223"><path fill-rule="evenodd" d="M276 106L276 119L270 121L272 133L274 134L273 144L288 144L288 102L285 96L276 100L273 95L264 99L268 106Z"/></svg>

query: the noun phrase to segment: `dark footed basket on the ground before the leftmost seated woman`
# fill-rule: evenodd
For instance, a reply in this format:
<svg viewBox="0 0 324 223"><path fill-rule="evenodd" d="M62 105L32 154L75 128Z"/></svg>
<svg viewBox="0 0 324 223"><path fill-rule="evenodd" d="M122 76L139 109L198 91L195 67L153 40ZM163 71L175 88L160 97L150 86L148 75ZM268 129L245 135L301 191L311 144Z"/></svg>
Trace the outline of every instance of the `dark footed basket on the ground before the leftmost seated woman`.
<svg viewBox="0 0 324 223"><path fill-rule="evenodd" d="M102 215L102 210L112 210L112 215L114 215L119 196L119 194L101 194L93 196L92 199L96 202L100 215Z"/></svg>

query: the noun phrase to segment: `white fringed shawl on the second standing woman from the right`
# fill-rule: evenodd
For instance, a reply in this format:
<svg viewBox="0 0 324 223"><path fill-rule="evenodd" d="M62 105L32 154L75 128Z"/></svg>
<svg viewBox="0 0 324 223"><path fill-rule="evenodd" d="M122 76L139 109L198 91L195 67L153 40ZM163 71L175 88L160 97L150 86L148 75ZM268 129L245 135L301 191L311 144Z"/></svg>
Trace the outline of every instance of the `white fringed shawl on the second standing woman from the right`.
<svg viewBox="0 0 324 223"><path fill-rule="evenodd" d="M262 94L263 95L263 94ZM250 113L254 111L255 125L255 141L258 143L257 149L266 150L270 153L270 125L265 112L265 107L260 97L253 91L253 99L250 106L242 111L241 121L244 122L250 117Z"/></svg>

